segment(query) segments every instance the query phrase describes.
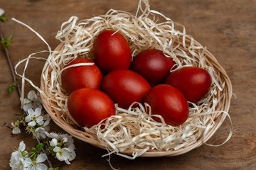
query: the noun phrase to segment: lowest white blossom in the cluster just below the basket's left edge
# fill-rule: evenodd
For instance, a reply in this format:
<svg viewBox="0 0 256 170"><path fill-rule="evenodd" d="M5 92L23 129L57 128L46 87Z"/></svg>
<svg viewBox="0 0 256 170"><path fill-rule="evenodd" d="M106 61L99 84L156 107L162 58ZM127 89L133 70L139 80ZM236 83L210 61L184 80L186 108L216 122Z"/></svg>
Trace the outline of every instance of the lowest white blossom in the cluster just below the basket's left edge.
<svg viewBox="0 0 256 170"><path fill-rule="evenodd" d="M60 161L65 161L66 164L70 164L70 161L75 159L76 156L75 151L67 147L55 147L53 151L56 152L57 159Z"/></svg>

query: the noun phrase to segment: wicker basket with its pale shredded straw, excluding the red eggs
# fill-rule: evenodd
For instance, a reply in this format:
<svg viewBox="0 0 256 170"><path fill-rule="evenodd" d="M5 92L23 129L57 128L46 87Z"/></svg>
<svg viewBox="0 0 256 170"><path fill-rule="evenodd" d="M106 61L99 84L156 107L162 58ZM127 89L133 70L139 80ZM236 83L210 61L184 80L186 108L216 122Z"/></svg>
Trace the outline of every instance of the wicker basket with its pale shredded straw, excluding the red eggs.
<svg viewBox="0 0 256 170"><path fill-rule="evenodd" d="M158 22L159 17L164 22ZM210 73L213 79L210 91L198 103L191 103L186 123L178 127L156 123L151 118L155 115L151 115L150 106L144 103L127 110L116 106L116 115L90 129L75 123L68 113L68 94L60 83L60 74L76 57L93 60L93 41L106 29L124 35L133 57L142 50L157 49L172 57L177 69L196 66ZM209 140L228 115L232 86L223 67L206 47L186 34L181 24L150 10L148 1L139 1L135 16L112 9L105 15L82 21L73 16L63 23L56 38L60 45L51 52L41 75L43 106L60 128L79 140L108 149L109 154L129 159L183 154Z"/></svg>

